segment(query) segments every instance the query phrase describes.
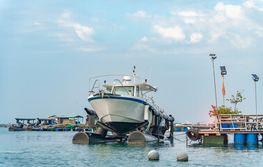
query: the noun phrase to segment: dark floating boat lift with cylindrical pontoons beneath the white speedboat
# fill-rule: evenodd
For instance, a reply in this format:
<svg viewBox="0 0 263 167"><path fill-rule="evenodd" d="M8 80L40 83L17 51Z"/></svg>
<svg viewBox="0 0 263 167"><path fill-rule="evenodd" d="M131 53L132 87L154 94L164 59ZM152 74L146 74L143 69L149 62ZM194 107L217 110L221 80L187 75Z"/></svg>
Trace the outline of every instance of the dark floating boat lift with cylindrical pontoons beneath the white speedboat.
<svg viewBox="0 0 263 167"><path fill-rule="evenodd" d="M106 143L112 141L128 141L128 143L144 144L148 142L164 141L164 133L170 127L170 136L168 139L173 143L173 121L175 120L172 115L167 116L165 113L155 111L151 107L152 121L148 120L142 122L135 127L131 127L127 132L120 134L115 129L109 127L103 122L97 121L97 113L93 110L86 109L88 126L93 129L93 132L77 132L72 138L72 143L89 144L89 143ZM108 131L112 135L108 135Z"/></svg>

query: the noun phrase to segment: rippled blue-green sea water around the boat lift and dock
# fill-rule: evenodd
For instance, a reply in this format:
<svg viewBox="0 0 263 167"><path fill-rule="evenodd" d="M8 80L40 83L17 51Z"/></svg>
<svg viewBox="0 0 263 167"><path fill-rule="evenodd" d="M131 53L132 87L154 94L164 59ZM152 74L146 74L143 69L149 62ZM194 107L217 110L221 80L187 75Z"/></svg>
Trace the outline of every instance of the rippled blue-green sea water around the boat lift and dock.
<svg viewBox="0 0 263 167"><path fill-rule="evenodd" d="M262 166L260 145L202 145L189 141L185 132L175 132L174 143L134 145L127 142L79 145L72 143L77 132L8 132L0 128L0 166ZM159 161L149 161L157 150ZM189 161L177 161L186 152Z"/></svg>

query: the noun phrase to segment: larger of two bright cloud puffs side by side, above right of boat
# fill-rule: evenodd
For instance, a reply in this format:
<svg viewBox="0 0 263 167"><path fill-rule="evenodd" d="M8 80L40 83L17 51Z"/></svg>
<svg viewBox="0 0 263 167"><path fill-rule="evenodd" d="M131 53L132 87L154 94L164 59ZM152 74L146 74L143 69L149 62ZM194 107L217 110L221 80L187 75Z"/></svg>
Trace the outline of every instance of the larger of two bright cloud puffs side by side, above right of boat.
<svg viewBox="0 0 263 167"><path fill-rule="evenodd" d="M163 38L172 38L173 40L176 41L185 39L185 35L180 26L164 28L158 25L154 25L153 31L155 33L159 33Z"/></svg>

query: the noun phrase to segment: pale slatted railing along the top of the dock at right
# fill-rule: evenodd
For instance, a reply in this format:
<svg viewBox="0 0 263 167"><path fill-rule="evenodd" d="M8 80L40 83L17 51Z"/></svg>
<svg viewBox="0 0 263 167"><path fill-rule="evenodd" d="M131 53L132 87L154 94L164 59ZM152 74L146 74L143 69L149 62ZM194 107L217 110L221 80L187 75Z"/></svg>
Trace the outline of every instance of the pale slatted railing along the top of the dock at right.
<svg viewBox="0 0 263 167"><path fill-rule="evenodd" d="M216 131L263 130L263 115L220 114L215 117Z"/></svg>

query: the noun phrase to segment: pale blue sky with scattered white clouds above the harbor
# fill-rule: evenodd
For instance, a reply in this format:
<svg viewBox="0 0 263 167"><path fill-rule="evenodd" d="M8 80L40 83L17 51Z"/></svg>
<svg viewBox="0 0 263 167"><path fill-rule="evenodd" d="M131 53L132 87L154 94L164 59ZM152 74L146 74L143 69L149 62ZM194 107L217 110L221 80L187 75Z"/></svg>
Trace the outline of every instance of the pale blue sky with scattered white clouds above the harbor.
<svg viewBox="0 0 263 167"><path fill-rule="evenodd" d="M175 122L213 122L216 75L244 114L263 114L263 1L0 0L0 123L86 116L88 79L133 74ZM152 70L151 70L152 68ZM151 71L151 73L150 73ZM232 106L225 102L226 106Z"/></svg>

